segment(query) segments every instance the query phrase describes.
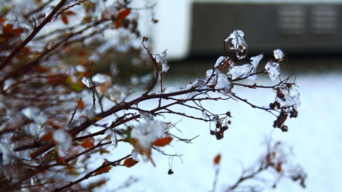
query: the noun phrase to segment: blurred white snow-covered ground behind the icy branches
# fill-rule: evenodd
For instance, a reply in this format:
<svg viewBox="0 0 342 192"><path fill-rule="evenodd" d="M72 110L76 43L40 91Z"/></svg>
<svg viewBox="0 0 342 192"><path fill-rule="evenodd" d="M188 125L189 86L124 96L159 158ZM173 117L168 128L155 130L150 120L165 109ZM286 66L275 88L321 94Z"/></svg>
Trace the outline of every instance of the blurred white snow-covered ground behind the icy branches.
<svg viewBox="0 0 342 192"><path fill-rule="evenodd" d="M188 78L169 76L165 86L186 86ZM253 84L251 80L246 83ZM293 147L295 164L301 164L308 178L306 188L303 190L298 183L290 179L281 180L274 191L342 191L342 127L339 122L342 96L342 76L340 72L325 73L299 73L297 74L298 90L301 94L301 106L297 119L289 119L287 125L289 131L282 133L280 129L274 129L272 123L274 116L258 109L253 109L243 102L234 100L202 102L213 111L231 111L232 125L225 132L222 140L216 140L209 134L209 123L203 123L182 116L166 115L166 119L158 117L158 120L175 123L181 129L183 135L174 129L171 131L182 138L192 138L193 144L184 142L171 143L172 146L164 148L164 152L183 154L181 163L179 158L174 158L173 175L168 175L168 157L153 151L153 159L156 167L151 163L140 162L131 168L114 167L102 177L110 178L106 183L106 190L111 191L118 187L129 176L139 178L139 182L123 191L210 191L214 180L213 158L221 153L221 171L218 181L218 190L223 191L229 184L234 183L240 176L241 165L250 166L255 163L259 155L265 151L262 144L265 137L272 134L274 140L281 140ZM259 75L258 84L272 84L267 76ZM243 98L247 98L253 104L263 106L274 100L275 94L268 89L252 90L242 87L234 87L234 92ZM138 96L135 93L131 97ZM128 99L130 100L130 99ZM145 101L139 104L142 109L151 109L157 105L156 100ZM189 110L184 107L173 107L175 111L201 116L199 111ZM108 150L111 146L108 147ZM119 143L119 146L105 156L108 160L116 160L127 155L132 146L127 143ZM141 156L139 156L141 159ZM96 164L102 164L98 159ZM85 181L86 183L87 181ZM102 188L100 191L104 191Z"/></svg>

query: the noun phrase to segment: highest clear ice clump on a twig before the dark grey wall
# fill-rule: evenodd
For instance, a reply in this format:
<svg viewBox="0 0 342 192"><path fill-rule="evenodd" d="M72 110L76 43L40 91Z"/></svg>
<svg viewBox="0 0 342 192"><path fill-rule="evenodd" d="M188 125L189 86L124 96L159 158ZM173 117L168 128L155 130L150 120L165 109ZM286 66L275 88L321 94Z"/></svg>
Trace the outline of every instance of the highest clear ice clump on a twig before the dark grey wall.
<svg viewBox="0 0 342 192"><path fill-rule="evenodd" d="M247 54L247 43L244 40L245 33L241 30L234 30L231 35L225 39L224 41L227 42L229 39L232 39L232 43L230 48L235 50L236 56L238 59L242 60L246 57Z"/></svg>

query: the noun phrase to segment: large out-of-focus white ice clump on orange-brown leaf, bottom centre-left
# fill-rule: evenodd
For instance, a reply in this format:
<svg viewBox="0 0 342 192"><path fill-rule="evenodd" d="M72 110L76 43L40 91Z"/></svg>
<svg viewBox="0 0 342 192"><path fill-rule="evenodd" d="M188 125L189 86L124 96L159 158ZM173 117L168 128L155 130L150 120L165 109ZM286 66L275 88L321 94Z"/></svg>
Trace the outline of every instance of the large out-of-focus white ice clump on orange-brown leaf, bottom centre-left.
<svg viewBox="0 0 342 192"><path fill-rule="evenodd" d="M136 140L134 147L137 152L143 155L145 161L151 154L151 146L158 138L166 137L165 130L169 123L151 121L146 124L139 124L131 131L131 137Z"/></svg>

